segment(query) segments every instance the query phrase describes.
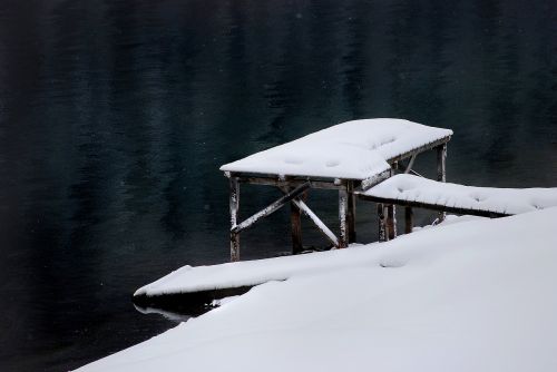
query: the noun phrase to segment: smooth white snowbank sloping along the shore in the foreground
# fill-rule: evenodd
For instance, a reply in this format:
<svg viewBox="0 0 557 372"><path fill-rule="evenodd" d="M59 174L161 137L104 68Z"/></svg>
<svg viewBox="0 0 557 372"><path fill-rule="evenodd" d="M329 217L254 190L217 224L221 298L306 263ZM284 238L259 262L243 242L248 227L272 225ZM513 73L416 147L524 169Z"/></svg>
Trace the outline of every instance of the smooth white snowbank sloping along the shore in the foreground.
<svg viewBox="0 0 557 372"><path fill-rule="evenodd" d="M557 371L556 221L549 208L299 256L330 266L81 371Z"/></svg>

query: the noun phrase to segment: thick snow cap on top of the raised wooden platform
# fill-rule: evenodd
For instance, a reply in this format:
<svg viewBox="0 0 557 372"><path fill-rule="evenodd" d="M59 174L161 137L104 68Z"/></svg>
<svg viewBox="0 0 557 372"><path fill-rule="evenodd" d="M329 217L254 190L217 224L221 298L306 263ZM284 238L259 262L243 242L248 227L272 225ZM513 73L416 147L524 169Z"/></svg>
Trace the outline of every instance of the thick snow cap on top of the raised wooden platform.
<svg viewBox="0 0 557 372"><path fill-rule="evenodd" d="M221 170L365 179L389 169L388 159L451 135L449 129L402 119L354 120L225 164Z"/></svg>

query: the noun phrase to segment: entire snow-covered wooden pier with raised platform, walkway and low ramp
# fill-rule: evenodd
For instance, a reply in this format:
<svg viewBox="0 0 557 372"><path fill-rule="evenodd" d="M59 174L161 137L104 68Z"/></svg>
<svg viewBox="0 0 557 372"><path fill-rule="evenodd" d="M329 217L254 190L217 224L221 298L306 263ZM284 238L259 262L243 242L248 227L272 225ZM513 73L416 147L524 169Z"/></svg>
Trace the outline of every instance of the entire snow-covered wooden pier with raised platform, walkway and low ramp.
<svg viewBox="0 0 557 372"><path fill-rule="evenodd" d="M557 206L557 188L510 189L446 183L447 143L451 135L449 129L408 120L355 120L224 165L221 169L231 184L232 262L182 267L137 290L135 303L144 307L199 306L270 281L358 264L360 254L346 255L344 249L240 262L240 233L286 204L291 205L294 254L303 249L302 214L334 248L354 243L356 197L377 203L380 242L397 237L397 205L404 207L405 233L412 232L416 207L439 212L438 222L442 222L446 213L494 218ZM437 180L423 178L412 168L417 156L427 150L437 151ZM241 222L242 183L275 186L283 195ZM312 188L339 193L339 236L307 206L306 194Z"/></svg>

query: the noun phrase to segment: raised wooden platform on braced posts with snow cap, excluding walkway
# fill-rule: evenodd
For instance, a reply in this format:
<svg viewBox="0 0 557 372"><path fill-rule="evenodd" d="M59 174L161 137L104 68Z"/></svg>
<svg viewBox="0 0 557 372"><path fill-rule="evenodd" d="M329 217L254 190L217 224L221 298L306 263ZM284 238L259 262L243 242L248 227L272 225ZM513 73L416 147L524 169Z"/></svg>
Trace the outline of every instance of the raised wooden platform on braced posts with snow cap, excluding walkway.
<svg viewBox="0 0 557 372"><path fill-rule="evenodd" d="M451 135L450 129L402 119L354 120L223 165L221 170L225 172L231 185L231 261L240 260L240 233L286 204L291 204L293 253L303 251L302 214L333 246L346 247L355 242L354 190L367 189L390 177L404 159L408 159L405 168L410 172L416 157L431 149L438 154L438 180L444 180L447 143ZM284 195L241 223L241 183L276 186ZM338 190L339 237L304 200L311 188ZM392 217L392 206L387 209Z"/></svg>

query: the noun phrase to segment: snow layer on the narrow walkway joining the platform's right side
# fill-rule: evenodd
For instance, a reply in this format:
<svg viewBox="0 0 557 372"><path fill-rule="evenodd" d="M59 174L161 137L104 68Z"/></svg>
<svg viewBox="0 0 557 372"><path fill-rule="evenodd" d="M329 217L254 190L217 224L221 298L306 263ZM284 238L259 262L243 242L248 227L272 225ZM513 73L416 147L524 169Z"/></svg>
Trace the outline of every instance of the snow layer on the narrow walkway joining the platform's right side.
<svg viewBox="0 0 557 372"><path fill-rule="evenodd" d="M364 195L515 215L557 206L557 188L492 188L397 175Z"/></svg>

